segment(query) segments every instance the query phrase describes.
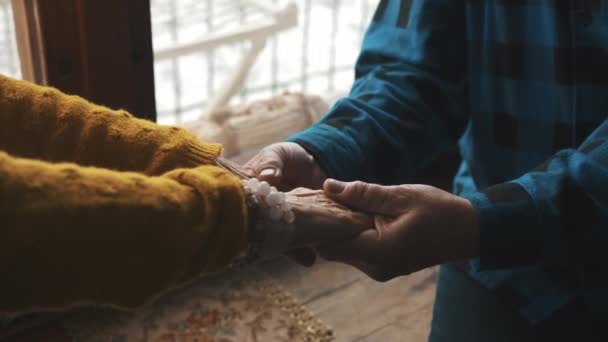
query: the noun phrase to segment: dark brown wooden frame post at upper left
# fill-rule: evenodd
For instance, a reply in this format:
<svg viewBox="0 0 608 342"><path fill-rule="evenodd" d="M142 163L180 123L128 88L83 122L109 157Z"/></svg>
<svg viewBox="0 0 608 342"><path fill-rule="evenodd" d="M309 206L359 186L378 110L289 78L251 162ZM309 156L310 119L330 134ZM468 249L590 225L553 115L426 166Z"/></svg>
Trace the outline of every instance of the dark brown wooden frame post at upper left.
<svg viewBox="0 0 608 342"><path fill-rule="evenodd" d="M25 79L156 121L149 0L12 0Z"/></svg>

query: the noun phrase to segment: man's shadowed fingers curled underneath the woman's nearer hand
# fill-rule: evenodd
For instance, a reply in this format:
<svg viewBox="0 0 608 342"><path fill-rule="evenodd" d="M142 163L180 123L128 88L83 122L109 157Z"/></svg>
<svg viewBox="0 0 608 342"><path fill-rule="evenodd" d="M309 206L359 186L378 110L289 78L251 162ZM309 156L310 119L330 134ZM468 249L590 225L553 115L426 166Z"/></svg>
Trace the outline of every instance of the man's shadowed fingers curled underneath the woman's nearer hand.
<svg viewBox="0 0 608 342"><path fill-rule="evenodd" d="M368 229L352 240L317 247L319 256L330 261L357 264L374 260L380 253L380 239L375 229Z"/></svg>

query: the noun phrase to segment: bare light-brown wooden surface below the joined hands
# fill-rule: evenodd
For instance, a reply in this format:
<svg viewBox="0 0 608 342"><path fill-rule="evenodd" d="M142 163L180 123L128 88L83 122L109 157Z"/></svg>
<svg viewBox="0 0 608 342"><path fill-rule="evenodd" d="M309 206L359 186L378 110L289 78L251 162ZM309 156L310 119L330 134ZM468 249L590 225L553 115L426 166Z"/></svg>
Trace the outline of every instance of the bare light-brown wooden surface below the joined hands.
<svg viewBox="0 0 608 342"><path fill-rule="evenodd" d="M331 326L335 341L427 340L436 268L386 283L325 261L305 268L279 259L258 268Z"/></svg>

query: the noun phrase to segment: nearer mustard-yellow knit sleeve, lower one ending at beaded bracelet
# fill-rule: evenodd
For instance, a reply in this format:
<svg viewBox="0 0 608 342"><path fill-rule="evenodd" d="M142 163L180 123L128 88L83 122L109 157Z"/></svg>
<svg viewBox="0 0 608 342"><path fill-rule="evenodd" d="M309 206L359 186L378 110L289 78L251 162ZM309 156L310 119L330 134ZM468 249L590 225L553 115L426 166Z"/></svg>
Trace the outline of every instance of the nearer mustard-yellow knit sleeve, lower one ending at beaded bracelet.
<svg viewBox="0 0 608 342"><path fill-rule="evenodd" d="M247 245L245 203L214 166L145 176L0 152L0 312L135 307L219 270Z"/></svg>

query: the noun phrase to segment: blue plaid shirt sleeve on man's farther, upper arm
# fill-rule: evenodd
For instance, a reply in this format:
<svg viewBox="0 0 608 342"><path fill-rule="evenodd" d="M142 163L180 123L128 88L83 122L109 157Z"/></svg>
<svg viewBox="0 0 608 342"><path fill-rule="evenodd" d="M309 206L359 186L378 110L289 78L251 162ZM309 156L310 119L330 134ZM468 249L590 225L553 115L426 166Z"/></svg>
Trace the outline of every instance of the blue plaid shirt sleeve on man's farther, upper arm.
<svg viewBox="0 0 608 342"><path fill-rule="evenodd" d="M464 11L451 0L381 1L349 96L289 140L334 178L411 180L468 121Z"/></svg>

